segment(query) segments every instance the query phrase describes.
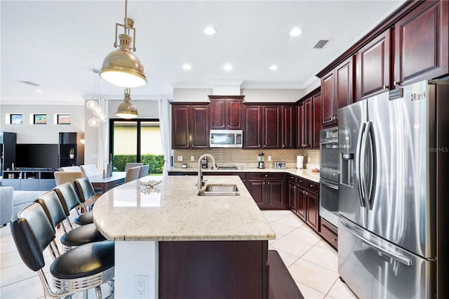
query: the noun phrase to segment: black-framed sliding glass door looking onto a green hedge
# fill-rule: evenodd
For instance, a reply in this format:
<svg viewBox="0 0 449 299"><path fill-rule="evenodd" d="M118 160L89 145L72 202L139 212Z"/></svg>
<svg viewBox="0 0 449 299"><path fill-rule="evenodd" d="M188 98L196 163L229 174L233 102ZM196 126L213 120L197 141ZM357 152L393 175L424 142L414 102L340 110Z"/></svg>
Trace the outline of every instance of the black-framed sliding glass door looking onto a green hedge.
<svg viewBox="0 0 449 299"><path fill-rule="evenodd" d="M162 173L159 119L110 119L109 128L109 152L118 171L128 162L141 162L149 164L149 173Z"/></svg>

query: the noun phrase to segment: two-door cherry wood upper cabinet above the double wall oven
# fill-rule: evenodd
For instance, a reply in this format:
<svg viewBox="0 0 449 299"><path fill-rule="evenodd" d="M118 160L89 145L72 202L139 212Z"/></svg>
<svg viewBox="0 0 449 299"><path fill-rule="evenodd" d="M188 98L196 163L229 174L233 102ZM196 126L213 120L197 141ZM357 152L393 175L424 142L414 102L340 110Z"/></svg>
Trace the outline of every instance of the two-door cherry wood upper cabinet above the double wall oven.
<svg viewBox="0 0 449 299"><path fill-rule="evenodd" d="M321 121L323 126L338 123L338 109L353 102L354 60L351 56L321 77Z"/></svg>

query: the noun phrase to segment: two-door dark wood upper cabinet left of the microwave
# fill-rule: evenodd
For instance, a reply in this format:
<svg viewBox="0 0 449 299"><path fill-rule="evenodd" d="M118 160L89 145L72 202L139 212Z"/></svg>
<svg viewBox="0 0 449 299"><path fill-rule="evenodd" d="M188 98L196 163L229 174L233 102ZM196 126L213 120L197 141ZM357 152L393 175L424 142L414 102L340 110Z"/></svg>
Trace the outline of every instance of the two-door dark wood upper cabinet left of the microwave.
<svg viewBox="0 0 449 299"><path fill-rule="evenodd" d="M209 105L172 104L172 149L209 147Z"/></svg>

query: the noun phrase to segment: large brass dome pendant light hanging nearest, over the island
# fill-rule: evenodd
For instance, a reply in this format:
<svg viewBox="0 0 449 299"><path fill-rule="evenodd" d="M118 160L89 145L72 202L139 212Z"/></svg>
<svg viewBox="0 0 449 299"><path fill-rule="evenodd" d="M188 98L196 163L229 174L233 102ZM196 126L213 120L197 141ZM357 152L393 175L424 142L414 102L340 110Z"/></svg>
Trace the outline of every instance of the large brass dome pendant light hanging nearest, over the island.
<svg viewBox="0 0 449 299"><path fill-rule="evenodd" d="M119 26L125 29L124 34L119 34L119 50L109 53L103 60L100 69L100 77L116 86L133 88L147 84L145 69L133 53L135 51L135 28L134 21L127 18L128 0L125 0L125 24L115 23L114 48L117 48L117 29ZM131 38L130 31L133 31ZM131 48L131 42L133 47Z"/></svg>

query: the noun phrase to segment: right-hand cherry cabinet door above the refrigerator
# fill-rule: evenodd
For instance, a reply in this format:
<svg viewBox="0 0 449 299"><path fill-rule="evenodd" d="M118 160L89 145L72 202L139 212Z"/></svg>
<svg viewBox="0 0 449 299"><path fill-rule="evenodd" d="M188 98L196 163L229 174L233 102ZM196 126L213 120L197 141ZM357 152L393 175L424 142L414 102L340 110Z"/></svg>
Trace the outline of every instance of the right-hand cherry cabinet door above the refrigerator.
<svg viewBox="0 0 449 299"><path fill-rule="evenodd" d="M448 74L448 11L448 1L426 1L396 22L394 85Z"/></svg>

